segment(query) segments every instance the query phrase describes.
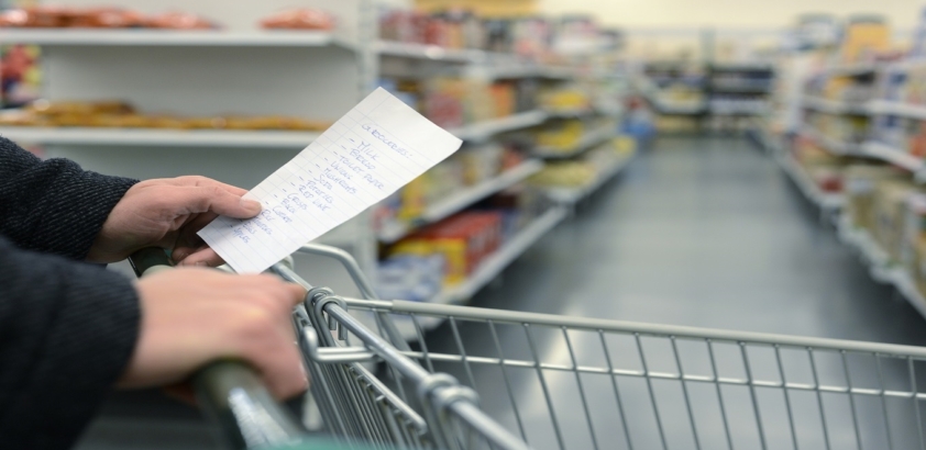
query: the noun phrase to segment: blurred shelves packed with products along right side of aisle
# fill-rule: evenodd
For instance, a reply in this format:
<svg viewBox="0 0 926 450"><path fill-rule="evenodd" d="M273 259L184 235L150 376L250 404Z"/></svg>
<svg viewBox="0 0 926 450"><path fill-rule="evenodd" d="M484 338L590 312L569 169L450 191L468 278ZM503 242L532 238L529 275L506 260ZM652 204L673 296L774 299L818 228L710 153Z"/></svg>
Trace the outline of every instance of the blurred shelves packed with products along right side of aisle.
<svg viewBox="0 0 926 450"><path fill-rule="evenodd" d="M852 18L835 50L817 56L829 63L804 86L802 126L781 160L811 200L838 213L840 237L872 277L926 311L926 29L918 30L912 50L897 49L883 21ZM827 195L838 201L824 204Z"/></svg>

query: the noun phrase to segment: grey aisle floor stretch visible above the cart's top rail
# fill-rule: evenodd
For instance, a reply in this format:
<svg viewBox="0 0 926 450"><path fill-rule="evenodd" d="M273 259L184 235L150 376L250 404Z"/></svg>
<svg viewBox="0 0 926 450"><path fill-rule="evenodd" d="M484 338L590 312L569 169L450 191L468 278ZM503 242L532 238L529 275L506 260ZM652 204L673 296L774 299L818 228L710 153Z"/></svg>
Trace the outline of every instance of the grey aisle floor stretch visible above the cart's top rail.
<svg viewBox="0 0 926 450"><path fill-rule="evenodd" d="M926 345L926 322L741 139L663 138L504 281L475 304Z"/></svg>

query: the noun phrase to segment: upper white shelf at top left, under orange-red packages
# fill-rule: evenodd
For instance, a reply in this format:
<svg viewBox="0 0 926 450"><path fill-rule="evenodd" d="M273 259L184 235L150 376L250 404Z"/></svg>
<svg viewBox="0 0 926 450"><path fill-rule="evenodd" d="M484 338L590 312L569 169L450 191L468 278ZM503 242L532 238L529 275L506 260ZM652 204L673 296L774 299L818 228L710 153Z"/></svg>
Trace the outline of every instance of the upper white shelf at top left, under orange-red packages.
<svg viewBox="0 0 926 450"><path fill-rule="evenodd" d="M43 46L323 47L345 45L318 31L0 30L0 43Z"/></svg>

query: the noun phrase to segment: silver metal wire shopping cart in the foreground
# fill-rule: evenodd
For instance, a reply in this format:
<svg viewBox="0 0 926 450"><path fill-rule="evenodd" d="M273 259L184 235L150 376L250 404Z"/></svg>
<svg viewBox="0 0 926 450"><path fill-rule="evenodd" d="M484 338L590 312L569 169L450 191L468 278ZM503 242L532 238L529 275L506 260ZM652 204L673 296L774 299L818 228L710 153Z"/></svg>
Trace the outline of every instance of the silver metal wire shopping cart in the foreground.
<svg viewBox="0 0 926 450"><path fill-rule="evenodd" d="M926 348L381 301L346 252L300 252L340 261L364 296L272 268L308 289L294 323L346 448L926 449ZM230 432L283 428L243 421Z"/></svg>

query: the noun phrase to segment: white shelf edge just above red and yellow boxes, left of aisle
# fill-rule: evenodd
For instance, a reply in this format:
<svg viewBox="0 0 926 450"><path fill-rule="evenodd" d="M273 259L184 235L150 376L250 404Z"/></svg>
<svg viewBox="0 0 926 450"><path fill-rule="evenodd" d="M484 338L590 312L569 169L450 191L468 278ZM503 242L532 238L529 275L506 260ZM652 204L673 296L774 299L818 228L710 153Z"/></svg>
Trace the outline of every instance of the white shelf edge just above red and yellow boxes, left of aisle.
<svg viewBox="0 0 926 450"><path fill-rule="evenodd" d="M394 222L386 225L378 233L379 240L387 244L395 243L411 233L415 228L449 217L453 213L462 211L466 206L470 206L479 200L517 184L541 169L543 169L543 161L539 159L528 159L520 165L504 171L495 178L485 180L470 188L462 189L453 195L450 195L437 204L429 206L425 210L420 217L410 221L410 223Z"/></svg>

